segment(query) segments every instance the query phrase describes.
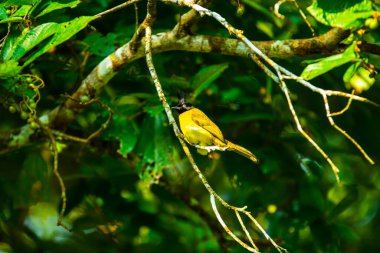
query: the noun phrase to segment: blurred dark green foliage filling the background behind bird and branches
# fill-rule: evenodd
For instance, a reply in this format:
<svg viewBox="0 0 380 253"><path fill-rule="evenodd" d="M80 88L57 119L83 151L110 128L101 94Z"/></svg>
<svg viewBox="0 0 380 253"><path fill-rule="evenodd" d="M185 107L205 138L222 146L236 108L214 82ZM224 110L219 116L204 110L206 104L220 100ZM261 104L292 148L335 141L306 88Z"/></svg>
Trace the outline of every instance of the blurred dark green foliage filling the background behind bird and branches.
<svg viewBox="0 0 380 253"><path fill-rule="evenodd" d="M32 124L29 119L34 113L41 116L62 103L62 94L74 92L105 56L130 40L136 22L133 7L94 18L122 2L0 3L0 37L4 38L1 135ZM320 34L327 26L342 23L365 28L371 17L368 11L375 8L369 0L347 1L350 8L343 9L336 2L302 1L300 6L303 10L310 6L307 10L315 19L309 19ZM210 8L253 40L311 37L294 5L281 6L286 19L280 20L270 11L275 3L243 0L238 6L235 1L219 1ZM138 6L141 21L145 3ZM173 28L186 11L158 3L154 32ZM338 19L331 14L334 11L339 12ZM351 16L353 11L356 16ZM210 18L200 20L193 31L229 36ZM362 39L355 36L354 42L346 43ZM363 38L378 42L380 35L369 31ZM309 65L313 71L318 66L312 73L313 83L349 92L343 76L346 82L351 80L359 71L357 61L379 67L379 56L361 55L359 59L353 47L349 53L315 57L320 61ZM290 82L295 109L306 131L341 169L340 185L326 161L297 132L277 84L248 59L166 52L154 55L154 63L170 103L176 103L178 90L186 92L190 102L209 115L228 139L259 157L260 164L254 166L233 153L209 159L191 148L210 184L226 201L248 205L271 237L290 252L379 252L379 166L369 166L328 124L318 95ZM296 57L279 63L295 73L306 67ZM38 80L28 75L40 76L45 87L35 90L29 84ZM361 89L361 95L380 102L378 82L371 85L368 91ZM352 84L348 87L356 89ZM0 252L245 252L217 223L209 196L167 122L145 60L120 70L100 99L115 113L101 136L90 144L58 140L59 171L68 198L64 223L71 232L56 226L61 193L47 139L1 153ZM346 103L336 98L330 106L339 111ZM378 115L378 108L353 102L349 111L336 118L376 164L380 162ZM107 117L107 111L91 105L67 133L89 136ZM233 213L223 208L220 212L231 228L239 228ZM238 235L245 236L243 232ZM258 233L253 236L263 252L274 252L265 238Z"/></svg>

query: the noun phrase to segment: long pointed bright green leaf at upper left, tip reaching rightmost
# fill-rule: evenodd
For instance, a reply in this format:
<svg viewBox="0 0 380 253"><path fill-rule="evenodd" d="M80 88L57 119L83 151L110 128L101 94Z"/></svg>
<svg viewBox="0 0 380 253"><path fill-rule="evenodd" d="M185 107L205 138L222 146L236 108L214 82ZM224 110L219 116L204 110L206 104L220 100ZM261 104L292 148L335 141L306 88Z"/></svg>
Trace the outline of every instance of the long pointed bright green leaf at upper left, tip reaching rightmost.
<svg viewBox="0 0 380 253"><path fill-rule="evenodd" d="M98 17L95 16L83 16L79 18L75 18L69 22L61 23L57 25L57 31L54 36L45 43L45 45L40 48L38 51L34 52L28 60L24 63L23 67L27 66L39 56L47 52L49 49L65 42L70 39L72 36L77 34L83 28L87 26L89 22L96 19Z"/></svg>

